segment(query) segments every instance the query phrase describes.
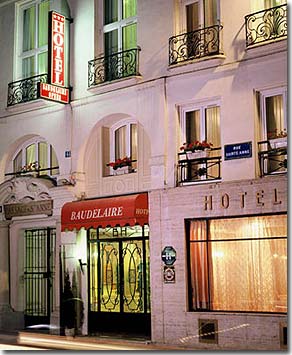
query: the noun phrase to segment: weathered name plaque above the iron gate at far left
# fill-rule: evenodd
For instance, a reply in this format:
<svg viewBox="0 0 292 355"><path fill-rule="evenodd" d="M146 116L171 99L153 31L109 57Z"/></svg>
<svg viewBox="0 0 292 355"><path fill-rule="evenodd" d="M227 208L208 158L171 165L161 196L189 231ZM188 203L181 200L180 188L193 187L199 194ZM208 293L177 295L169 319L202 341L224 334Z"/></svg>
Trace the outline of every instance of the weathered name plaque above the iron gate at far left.
<svg viewBox="0 0 292 355"><path fill-rule="evenodd" d="M29 203L10 203L4 205L4 214L6 219L12 217L53 214L53 200L34 201Z"/></svg>

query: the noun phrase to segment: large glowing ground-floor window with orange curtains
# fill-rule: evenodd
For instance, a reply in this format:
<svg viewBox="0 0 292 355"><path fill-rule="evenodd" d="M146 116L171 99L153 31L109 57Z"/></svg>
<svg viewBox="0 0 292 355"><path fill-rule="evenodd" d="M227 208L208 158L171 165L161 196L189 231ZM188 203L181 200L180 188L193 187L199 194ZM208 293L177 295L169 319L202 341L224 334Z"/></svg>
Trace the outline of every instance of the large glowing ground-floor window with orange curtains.
<svg viewBox="0 0 292 355"><path fill-rule="evenodd" d="M287 215L189 223L190 310L287 312Z"/></svg>

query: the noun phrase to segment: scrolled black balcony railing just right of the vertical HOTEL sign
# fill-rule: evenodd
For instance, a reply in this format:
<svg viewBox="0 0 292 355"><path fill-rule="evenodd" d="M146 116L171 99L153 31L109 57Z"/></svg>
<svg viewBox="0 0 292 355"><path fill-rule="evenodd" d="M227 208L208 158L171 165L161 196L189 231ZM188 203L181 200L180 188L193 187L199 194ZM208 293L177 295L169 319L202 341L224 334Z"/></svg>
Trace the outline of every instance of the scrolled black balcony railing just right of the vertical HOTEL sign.
<svg viewBox="0 0 292 355"><path fill-rule="evenodd" d="M140 48L129 49L88 62L88 87L139 75Z"/></svg>

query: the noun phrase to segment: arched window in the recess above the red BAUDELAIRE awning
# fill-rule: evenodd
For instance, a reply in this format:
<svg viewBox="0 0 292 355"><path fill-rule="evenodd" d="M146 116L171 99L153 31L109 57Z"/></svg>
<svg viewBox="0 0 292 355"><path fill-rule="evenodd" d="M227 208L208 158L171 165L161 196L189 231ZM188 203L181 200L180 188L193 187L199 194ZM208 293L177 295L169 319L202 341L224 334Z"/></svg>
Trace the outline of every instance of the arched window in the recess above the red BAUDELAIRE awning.
<svg viewBox="0 0 292 355"><path fill-rule="evenodd" d="M138 132L136 123L129 121L126 124L113 126L111 142L111 161L125 157L137 160ZM132 168L137 168L137 162L132 163Z"/></svg>

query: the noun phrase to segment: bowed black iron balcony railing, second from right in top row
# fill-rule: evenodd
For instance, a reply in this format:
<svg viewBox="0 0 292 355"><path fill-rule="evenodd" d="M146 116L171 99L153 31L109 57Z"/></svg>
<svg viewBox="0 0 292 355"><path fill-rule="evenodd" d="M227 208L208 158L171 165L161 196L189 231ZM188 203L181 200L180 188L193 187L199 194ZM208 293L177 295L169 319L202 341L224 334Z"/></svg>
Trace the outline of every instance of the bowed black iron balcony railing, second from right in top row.
<svg viewBox="0 0 292 355"><path fill-rule="evenodd" d="M169 65L222 54L220 49L221 25L183 33L169 39Z"/></svg>

